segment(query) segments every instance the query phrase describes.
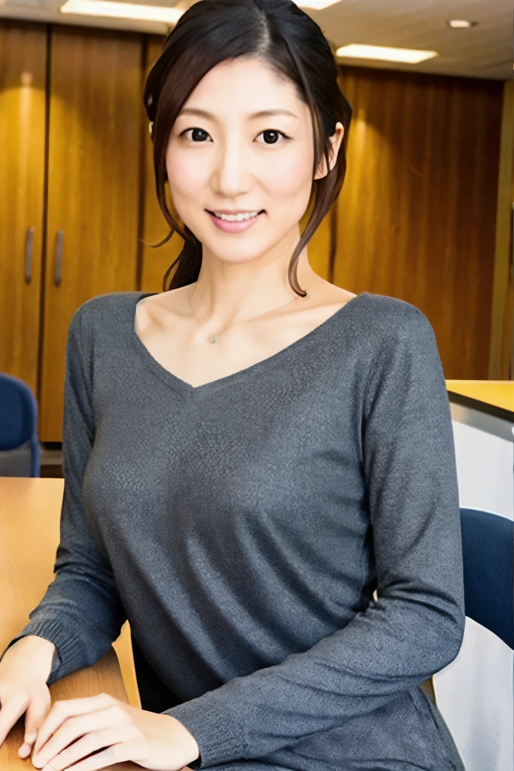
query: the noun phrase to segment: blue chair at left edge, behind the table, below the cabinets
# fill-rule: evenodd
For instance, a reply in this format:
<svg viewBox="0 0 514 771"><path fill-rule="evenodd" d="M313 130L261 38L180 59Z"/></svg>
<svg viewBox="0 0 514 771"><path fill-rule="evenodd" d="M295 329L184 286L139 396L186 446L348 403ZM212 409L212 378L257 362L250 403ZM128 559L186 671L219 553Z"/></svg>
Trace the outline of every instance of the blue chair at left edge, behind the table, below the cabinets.
<svg viewBox="0 0 514 771"><path fill-rule="evenodd" d="M18 449L30 443L30 476L41 470L38 426L38 405L29 386L0 372L0 451Z"/></svg>

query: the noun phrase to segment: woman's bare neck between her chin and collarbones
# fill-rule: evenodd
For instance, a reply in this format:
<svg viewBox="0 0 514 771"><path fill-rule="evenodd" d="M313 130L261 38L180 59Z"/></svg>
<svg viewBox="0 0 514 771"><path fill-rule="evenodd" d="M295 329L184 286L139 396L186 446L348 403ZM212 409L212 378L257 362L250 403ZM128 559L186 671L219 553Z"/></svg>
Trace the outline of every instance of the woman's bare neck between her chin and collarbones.
<svg viewBox="0 0 514 771"><path fill-rule="evenodd" d="M299 237L296 231L273 251L247 262L221 260L204 248L200 275L189 295L191 307L200 322L221 329L296 299L298 295L289 284L287 268ZM304 249L297 267L302 289L308 291L313 276Z"/></svg>

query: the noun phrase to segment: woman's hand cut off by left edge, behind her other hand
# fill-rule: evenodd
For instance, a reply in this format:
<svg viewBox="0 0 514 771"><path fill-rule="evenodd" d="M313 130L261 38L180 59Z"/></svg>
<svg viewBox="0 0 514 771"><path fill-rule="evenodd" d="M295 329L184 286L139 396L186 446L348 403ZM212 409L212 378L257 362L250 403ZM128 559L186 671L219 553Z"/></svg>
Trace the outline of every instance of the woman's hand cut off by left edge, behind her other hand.
<svg viewBox="0 0 514 771"><path fill-rule="evenodd" d="M52 669L55 645L29 635L15 642L0 662L0 745L25 712L25 739L18 755L30 755L39 726L50 709L46 681Z"/></svg>

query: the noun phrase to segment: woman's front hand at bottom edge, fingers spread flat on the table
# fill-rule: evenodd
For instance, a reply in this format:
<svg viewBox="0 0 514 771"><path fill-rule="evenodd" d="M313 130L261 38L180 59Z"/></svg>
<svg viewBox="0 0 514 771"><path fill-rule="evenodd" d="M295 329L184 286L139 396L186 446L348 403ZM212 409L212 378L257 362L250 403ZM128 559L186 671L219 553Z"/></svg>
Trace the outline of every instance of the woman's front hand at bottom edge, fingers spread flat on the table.
<svg viewBox="0 0 514 771"><path fill-rule="evenodd" d="M55 702L39 729L32 763L44 771L96 771L133 760L147 769L179 771L199 754L197 742L175 718L102 693Z"/></svg>

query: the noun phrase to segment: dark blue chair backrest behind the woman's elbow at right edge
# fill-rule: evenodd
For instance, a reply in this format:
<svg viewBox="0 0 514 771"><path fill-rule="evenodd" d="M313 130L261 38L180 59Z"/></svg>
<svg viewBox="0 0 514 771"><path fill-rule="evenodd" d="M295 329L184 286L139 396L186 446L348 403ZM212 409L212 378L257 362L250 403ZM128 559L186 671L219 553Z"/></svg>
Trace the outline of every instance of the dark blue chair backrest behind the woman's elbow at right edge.
<svg viewBox="0 0 514 771"><path fill-rule="evenodd" d="M461 509L465 614L514 650L514 522Z"/></svg>

